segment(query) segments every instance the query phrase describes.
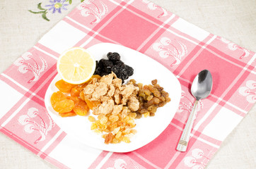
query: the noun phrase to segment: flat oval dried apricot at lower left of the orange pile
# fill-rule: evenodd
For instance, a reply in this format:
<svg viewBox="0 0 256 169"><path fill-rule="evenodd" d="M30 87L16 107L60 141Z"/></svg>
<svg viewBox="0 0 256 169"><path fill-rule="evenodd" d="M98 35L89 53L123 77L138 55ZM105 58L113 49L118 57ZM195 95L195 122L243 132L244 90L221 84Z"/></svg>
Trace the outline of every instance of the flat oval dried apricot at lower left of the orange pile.
<svg viewBox="0 0 256 169"><path fill-rule="evenodd" d="M67 113L69 111L72 111L74 106L74 101L70 99L64 99L62 101L58 101L56 104L54 104L54 106L52 106L52 108L54 109L54 111L57 111L59 113Z"/></svg>

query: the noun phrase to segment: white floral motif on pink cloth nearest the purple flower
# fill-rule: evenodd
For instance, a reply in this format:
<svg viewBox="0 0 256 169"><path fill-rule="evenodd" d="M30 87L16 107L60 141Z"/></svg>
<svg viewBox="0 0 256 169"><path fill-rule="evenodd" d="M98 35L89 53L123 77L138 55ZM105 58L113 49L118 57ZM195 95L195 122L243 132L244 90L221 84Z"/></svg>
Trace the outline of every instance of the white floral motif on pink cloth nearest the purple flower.
<svg viewBox="0 0 256 169"><path fill-rule="evenodd" d="M83 3L81 3L77 8L80 10L81 15L85 17L88 15L93 15L95 17L95 20L93 20L91 24L99 23L101 18L103 18L103 16L108 12L107 6L102 1L100 1L100 4L102 9L100 9L99 6L93 2L93 0L84 0Z"/></svg>

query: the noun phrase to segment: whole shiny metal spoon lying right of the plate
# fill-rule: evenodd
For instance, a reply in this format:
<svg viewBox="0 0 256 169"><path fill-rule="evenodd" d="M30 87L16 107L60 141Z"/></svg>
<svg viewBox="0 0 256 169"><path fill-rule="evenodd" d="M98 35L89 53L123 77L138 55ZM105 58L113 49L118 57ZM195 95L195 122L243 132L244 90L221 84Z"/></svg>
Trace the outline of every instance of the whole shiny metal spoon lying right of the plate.
<svg viewBox="0 0 256 169"><path fill-rule="evenodd" d="M200 99L205 99L211 93L212 88L212 77L209 70L202 70L198 73L197 77L194 78L191 87L192 95L197 99L194 102L194 107L190 113L190 117L187 120L187 124L182 132L180 137L180 141L177 146L178 151L186 151L187 144L190 140L190 133L192 130L192 125L194 123L194 119L197 115L197 104Z"/></svg>

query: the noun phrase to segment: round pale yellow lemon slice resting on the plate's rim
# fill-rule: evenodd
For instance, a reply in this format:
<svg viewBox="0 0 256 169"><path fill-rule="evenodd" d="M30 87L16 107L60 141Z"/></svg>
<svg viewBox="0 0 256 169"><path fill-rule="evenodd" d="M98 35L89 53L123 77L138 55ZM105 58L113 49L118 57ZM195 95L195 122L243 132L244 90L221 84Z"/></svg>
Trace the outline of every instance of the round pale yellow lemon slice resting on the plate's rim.
<svg viewBox="0 0 256 169"><path fill-rule="evenodd" d="M95 58L81 47L64 51L57 61L57 70L62 80L70 84L88 81L95 71Z"/></svg>

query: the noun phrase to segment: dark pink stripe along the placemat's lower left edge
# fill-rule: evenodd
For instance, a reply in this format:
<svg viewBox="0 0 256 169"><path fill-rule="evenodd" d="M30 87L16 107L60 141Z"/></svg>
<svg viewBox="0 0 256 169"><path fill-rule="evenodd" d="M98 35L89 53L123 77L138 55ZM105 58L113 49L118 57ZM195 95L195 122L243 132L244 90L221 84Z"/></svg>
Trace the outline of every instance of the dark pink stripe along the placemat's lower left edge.
<svg viewBox="0 0 256 169"><path fill-rule="evenodd" d="M38 152L40 152L39 149L35 148L35 146L32 146L31 144L29 144L28 142L25 142L23 139L21 139L20 137L18 137L16 134L14 134L13 132L7 130L5 127L2 127L0 129L0 132L2 132L3 134L6 134L7 137L10 137L11 139L13 139L15 142L18 142L18 144L21 144L22 146L24 146L26 149L29 149L30 151L32 151L34 154L37 154Z"/></svg>

